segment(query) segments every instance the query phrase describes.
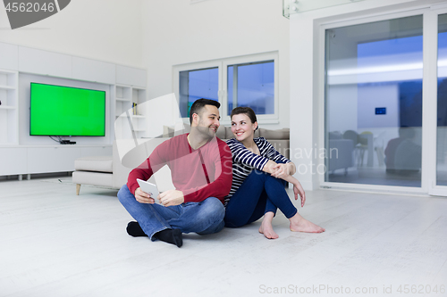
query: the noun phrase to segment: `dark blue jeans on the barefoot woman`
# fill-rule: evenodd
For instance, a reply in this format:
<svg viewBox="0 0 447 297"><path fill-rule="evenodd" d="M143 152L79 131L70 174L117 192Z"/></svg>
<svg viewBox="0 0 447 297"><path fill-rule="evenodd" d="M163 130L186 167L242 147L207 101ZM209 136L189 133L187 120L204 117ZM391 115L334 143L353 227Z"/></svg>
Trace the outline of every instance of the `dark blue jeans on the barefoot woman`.
<svg viewBox="0 0 447 297"><path fill-rule="evenodd" d="M283 211L287 219L298 210L285 191L287 182L254 169L232 195L225 211L225 227L241 227L260 219L268 211Z"/></svg>

